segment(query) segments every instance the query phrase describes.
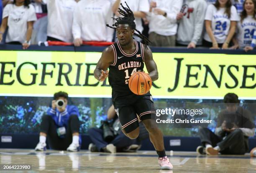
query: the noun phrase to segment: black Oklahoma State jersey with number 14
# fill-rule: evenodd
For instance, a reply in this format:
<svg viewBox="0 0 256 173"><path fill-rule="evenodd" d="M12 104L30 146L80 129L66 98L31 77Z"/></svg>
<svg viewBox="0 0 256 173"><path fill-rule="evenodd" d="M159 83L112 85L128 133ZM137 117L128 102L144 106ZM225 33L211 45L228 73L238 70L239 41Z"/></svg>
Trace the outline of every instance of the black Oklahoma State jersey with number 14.
<svg viewBox="0 0 256 173"><path fill-rule="evenodd" d="M126 54L119 41L111 45L114 50L115 60L109 66L108 81L112 87L113 92L120 93L118 95L131 94L128 86L128 81L131 75L144 68L144 54L143 45L135 41L136 50L132 54Z"/></svg>

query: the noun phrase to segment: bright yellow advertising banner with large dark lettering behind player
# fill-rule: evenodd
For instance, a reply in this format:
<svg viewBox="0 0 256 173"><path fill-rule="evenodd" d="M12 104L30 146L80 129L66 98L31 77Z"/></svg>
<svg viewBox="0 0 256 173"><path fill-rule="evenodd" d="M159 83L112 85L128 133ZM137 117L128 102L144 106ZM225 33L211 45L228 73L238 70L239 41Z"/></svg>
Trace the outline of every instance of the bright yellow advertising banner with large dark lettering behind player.
<svg viewBox="0 0 256 173"><path fill-rule="evenodd" d="M93 71L101 53L0 51L0 95L110 97L108 80ZM153 53L159 71L154 98L256 99L256 55ZM146 71L146 68L145 68Z"/></svg>

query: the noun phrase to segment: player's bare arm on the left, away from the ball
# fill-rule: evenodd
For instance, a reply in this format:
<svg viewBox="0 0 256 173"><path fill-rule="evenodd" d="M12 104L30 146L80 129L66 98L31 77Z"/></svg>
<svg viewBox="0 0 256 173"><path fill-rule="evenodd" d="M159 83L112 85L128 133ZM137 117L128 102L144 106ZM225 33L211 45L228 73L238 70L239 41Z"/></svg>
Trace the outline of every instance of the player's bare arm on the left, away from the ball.
<svg viewBox="0 0 256 173"><path fill-rule="evenodd" d="M108 77L108 67L114 62L114 51L111 46L103 50L100 60L94 70L94 77L100 82Z"/></svg>

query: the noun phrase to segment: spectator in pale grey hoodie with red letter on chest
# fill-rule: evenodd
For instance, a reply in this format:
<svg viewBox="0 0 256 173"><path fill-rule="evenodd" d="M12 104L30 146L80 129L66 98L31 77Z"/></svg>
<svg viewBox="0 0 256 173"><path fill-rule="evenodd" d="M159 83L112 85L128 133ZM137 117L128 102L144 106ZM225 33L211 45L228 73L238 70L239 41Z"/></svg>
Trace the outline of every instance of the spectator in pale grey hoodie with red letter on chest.
<svg viewBox="0 0 256 173"><path fill-rule="evenodd" d="M202 30L207 4L205 0L184 0L182 12L179 12L178 46L195 48L202 45Z"/></svg>

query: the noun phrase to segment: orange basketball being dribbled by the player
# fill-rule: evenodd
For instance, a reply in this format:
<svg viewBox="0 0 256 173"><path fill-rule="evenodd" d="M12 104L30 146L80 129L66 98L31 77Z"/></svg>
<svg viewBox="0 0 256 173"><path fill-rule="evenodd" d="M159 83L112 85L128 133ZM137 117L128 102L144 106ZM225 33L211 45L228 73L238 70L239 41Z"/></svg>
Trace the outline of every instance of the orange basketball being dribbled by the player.
<svg viewBox="0 0 256 173"><path fill-rule="evenodd" d="M131 75L128 85L134 94L144 95L150 90L152 80L148 74L144 72L137 72Z"/></svg>

